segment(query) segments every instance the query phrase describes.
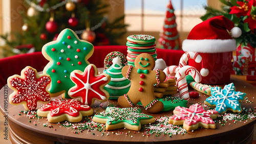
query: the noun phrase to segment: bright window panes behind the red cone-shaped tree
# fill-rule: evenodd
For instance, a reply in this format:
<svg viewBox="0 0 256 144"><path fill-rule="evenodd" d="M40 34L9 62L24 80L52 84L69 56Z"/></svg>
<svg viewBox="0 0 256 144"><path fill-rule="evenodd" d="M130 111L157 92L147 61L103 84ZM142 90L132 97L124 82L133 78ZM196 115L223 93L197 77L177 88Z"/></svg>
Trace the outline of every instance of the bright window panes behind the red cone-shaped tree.
<svg viewBox="0 0 256 144"><path fill-rule="evenodd" d="M168 3L169 0L125 0L125 23L130 25L127 31L160 32ZM200 16L206 12L203 6L207 5L207 0L173 0L172 5L178 31L190 32L202 22Z"/></svg>

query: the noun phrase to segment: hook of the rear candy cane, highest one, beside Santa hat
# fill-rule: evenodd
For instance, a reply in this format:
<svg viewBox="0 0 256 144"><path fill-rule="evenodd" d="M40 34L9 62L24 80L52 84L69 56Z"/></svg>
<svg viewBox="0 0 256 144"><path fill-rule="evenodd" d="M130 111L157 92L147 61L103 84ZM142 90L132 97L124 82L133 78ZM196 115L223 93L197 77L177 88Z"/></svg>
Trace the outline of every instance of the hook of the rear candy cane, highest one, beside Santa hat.
<svg viewBox="0 0 256 144"><path fill-rule="evenodd" d="M202 61L201 55L199 55L197 52L192 52L192 51L185 52L180 57L179 68L182 68L182 67L186 66L187 65L187 61L189 59L193 59L197 63L200 63Z"/></svg>

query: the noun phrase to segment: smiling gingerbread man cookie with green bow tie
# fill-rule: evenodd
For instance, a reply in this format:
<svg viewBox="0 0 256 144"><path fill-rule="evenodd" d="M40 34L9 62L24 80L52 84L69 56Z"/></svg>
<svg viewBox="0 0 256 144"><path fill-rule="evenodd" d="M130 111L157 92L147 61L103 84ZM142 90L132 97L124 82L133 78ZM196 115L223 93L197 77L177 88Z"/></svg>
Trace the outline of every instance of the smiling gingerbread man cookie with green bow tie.
<svg viewBox="0 0 256 144"><path fill-rule="evenodd" d="M131 80L131 88L127 94L118 98L120 106L132 107L141 101L148 112L157 113L163 109L163 103L154 95L154 84L163 82L165 73L161 70L153 70L154 67L154 57L147 53L137 56L135 67L123 67L122 75Z"/></svg>

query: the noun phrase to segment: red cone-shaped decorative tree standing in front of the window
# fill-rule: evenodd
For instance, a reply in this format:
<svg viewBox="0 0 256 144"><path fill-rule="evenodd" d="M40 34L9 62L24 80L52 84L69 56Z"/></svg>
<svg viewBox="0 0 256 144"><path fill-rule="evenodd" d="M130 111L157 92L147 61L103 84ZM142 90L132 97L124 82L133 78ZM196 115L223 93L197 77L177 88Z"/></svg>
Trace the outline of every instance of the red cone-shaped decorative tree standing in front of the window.
<svg viewBox="0 0 256 144"><path fill-rule="evenodd" d="M177 31L176 17L171 1L167 5L163 30L160 33L158 42L160 48L163 49L181 49L180 37Z"/></svg>

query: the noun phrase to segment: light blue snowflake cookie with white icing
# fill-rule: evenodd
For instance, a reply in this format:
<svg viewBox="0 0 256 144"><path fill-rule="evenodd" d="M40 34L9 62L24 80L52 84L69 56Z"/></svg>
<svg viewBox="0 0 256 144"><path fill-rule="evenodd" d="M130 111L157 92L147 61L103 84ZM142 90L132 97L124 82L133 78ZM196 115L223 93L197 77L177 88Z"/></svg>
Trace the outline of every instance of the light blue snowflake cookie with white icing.
<svg viewBox="0 0 256 144"><path fill-rule="evenodd" d="M211 96L204 103L210 106L216 105L219 113L225 113L227 110L242 112L239 101L242 101L246 94L236 92L235 89L233 83L225 85L223 90L220 87L211 88Z"/></svg>

